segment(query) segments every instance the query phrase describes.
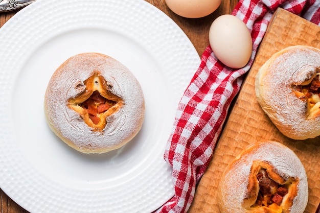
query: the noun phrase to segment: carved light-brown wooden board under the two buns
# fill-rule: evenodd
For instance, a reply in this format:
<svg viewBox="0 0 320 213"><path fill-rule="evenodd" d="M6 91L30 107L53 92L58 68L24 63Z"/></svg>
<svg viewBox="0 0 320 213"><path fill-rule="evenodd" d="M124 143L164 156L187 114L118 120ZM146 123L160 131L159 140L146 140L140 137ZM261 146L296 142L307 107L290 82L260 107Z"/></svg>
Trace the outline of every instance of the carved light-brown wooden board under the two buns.
<svg viewBox="0 0 320 213"><path fill-rule="evenodd" d="M230 109L208 170L198 183L189 213L218 213L216 190L220 176L245 147L255 141L274 140L295 152L304 164L309 184L309 202L305 213L314 213L320 202L320 137L307 140L287 138L271 123L255 96L255 77L260 66L276 53L291 45L309 45L320 49L320 27L278 9L269 23L256 60Z"/></svg>

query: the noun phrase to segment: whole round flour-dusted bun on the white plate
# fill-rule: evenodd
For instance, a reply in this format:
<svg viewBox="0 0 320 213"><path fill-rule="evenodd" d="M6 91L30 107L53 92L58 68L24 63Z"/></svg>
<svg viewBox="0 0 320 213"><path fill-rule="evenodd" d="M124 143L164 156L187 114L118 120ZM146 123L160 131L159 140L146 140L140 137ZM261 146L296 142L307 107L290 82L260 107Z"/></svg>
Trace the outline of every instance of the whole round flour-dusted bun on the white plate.
<svg viewBox="0 0 320 213"><path fill-rule="evenodd" d="M142 88L116 59L82 53L51 77L44 112L53 132L83 153L104 153L128 143L145 115Z"/></svg>

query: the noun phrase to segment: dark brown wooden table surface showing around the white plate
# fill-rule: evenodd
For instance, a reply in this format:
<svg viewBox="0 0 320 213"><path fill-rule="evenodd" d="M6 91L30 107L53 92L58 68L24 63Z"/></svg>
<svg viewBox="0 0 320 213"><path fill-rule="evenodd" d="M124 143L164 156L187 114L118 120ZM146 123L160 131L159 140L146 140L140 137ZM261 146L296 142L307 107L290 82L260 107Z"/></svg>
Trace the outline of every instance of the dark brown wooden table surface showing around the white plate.
<svg viewBox="0 0 320 213"><path fill-rule="evenodd" d="M165 0L145 0L146 2L154 5L158 9L165 12L170 18L172 18L177 25L186 33L189 37L199 56L202 55L205 48L209 44L208 34L211 23L215 18L223 14L230 14L235 8L238 0L225 0L222 1L220 7L212 14L203 18L184 18L173 13L166 5ZM18 10L6 13L0 13L0 28L8 21ZM36 18L36 17L35 17ZM0 47L1 48L1 47ZM1 174L0 174L1 175ZM27 210L20 207L13 200L11 200L0 189L0 210L2 213L26 213Z"/></svg>

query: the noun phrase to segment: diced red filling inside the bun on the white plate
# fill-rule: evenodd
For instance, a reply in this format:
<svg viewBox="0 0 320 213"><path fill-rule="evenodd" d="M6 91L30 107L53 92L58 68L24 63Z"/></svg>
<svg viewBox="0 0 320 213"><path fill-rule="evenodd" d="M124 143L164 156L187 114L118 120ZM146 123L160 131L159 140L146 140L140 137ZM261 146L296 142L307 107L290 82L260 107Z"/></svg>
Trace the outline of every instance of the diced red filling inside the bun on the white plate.
<svg viewBox="0 0 320 213"><path fill-rule="evenodd" d="M115 101L104 98L97 90L87 100L79 104L79 106L87 111L90 120L96 125L100 122L100 114L115 105Z"/></svg>

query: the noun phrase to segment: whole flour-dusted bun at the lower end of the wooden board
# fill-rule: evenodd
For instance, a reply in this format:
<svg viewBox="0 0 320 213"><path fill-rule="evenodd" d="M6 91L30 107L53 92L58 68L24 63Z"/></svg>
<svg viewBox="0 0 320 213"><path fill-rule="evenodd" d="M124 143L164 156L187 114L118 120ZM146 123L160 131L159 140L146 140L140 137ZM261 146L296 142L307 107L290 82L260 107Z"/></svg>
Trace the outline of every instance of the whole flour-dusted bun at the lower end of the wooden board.
<svg viewBox="0 0 320 213"><path fill-rule="evenodd" d="M307 176L286 146L275 141L254 143L225 169L217 200L222 213L302 213L308 202Z"/></svg>

